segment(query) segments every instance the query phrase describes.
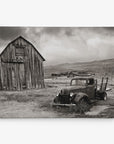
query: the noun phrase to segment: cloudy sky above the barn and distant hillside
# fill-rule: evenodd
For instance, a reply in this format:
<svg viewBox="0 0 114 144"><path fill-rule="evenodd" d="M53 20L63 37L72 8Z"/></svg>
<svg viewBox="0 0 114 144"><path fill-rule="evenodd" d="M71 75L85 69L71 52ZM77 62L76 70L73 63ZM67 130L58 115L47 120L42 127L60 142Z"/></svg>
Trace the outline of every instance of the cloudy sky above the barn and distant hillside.
<svg viewBox="0 0 114 144"><path fill-rule="evenodd" d="M114 27L0 27L0 52L20 35L38 49L45 65L114 58Z"/></svg>

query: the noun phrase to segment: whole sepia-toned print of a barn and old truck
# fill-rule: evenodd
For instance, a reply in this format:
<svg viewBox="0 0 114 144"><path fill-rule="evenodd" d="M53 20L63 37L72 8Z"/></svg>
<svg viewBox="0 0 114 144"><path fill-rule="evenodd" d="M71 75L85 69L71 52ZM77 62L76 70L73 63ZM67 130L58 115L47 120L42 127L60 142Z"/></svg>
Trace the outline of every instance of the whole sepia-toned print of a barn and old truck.
<svg viewBox="0 0 114 144"><path fill-rule="evenodd" d="M0 27L0 118L114 118L114 27Z"/></svg>

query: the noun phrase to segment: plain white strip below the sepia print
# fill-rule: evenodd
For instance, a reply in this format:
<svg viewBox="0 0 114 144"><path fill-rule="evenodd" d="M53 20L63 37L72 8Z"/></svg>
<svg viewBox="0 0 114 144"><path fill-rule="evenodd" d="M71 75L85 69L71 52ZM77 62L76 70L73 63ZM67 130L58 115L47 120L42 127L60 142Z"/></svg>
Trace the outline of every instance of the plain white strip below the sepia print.
<svg viewBox="0 0 114 144"><path fill-rule="evenodd" d="M2 144L112 144L113 120L19 119L0 121Z"/></svg>

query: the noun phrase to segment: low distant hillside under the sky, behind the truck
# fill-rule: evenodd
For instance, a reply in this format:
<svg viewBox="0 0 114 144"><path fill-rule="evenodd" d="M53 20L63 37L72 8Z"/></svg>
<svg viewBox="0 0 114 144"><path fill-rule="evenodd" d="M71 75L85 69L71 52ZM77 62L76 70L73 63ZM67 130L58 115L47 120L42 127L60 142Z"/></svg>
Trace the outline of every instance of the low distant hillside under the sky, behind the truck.
<svg viewBox="0 0 114 144"><path fill-rule="evenodd" d="M81 70L91 71L99 75L114 75L114 59L45 66L45 77L51 76L52 73Z"/></svg>

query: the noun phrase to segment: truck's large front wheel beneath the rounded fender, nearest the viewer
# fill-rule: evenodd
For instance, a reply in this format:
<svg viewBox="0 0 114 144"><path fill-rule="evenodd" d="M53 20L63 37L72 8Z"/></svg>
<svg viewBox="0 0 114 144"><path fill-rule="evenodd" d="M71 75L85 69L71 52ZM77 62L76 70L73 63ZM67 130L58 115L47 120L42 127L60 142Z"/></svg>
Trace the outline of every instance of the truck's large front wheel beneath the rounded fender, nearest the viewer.
<svg viewBox="0 0 114 144"><path fill-rule="evenodd" d="M88 98L83 97L80 99L78 103L78 108L80 113L84 113L90 109L90 103L88 102Z"/></svg>

